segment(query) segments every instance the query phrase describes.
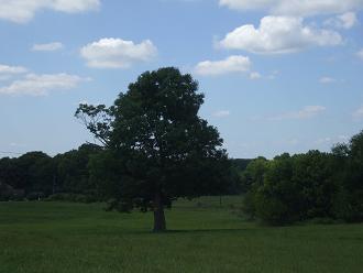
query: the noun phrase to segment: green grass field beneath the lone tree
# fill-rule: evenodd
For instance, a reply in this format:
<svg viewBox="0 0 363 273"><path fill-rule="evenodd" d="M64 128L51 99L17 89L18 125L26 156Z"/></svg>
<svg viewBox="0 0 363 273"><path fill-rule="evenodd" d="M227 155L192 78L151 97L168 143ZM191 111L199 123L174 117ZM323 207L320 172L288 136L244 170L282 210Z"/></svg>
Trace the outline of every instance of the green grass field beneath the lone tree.
<svg viewBox="0 0 363 273"><path fill-rule="evenodd" d="M154 234L151 214L0 203L0 272L363 272L363 225L264 227L233 211L240 204L177 201L169 231Z"/></svg>

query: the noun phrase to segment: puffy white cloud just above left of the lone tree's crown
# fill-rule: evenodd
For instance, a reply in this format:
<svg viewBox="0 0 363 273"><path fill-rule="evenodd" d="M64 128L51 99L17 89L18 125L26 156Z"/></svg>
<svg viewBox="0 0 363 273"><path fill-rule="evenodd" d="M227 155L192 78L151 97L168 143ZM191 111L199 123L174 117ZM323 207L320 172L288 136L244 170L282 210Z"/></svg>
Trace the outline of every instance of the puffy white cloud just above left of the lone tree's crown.
<svg viewBox="0 0 363 273"><path fill-rule="evenodd" d="M156 54L157 48L150 40L134 44L112 37L101 39L80 50L87 65L95 68L128 68L134 63L151 61Z"/></svg>

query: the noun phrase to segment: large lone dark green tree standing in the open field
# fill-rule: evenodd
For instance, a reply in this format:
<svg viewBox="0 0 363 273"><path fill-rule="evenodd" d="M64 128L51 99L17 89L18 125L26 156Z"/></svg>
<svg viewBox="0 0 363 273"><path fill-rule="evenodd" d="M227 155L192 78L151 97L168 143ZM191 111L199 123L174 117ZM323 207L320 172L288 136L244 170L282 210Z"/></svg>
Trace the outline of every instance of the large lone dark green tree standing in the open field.
<svg viewBox="0 0 363 273"><path fill-rule="evenodd" d="M80 105L76 117L105 145L94 177L121 207L154 211L154 231L166 230L164 207L177 197L220 194L229 162L215 127L198 116L204 95L174 67L142 74L114 105Z"/></svg>

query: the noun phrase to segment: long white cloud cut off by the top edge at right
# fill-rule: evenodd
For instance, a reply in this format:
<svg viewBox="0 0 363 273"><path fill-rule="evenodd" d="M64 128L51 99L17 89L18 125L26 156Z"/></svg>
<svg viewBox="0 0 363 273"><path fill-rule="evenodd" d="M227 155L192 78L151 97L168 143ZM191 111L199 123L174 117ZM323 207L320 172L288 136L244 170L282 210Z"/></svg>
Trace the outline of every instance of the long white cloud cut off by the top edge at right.
<svg viewBox="0 0 363 273"><path fill-rule="evenodd" d="M265 10L278 15L338 14L363 8L362 0L219 0L234 10Z"/></svg>

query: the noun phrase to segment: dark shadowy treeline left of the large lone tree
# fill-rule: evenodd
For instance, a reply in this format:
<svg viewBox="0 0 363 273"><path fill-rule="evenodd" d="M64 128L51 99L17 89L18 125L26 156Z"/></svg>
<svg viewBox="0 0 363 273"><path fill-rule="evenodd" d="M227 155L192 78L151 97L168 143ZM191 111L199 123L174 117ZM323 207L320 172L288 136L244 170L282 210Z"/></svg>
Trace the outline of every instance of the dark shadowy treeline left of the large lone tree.
<svg viewBox="0 0 363 273"><path fill-rule="evenodd" d="M88 164L101 151L98 145L84 144L54 157L43 152L29 152L16 159L1 159L0 200L97 200Z"/></svg>

